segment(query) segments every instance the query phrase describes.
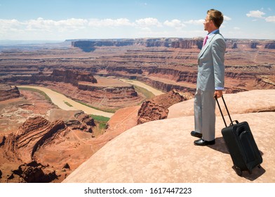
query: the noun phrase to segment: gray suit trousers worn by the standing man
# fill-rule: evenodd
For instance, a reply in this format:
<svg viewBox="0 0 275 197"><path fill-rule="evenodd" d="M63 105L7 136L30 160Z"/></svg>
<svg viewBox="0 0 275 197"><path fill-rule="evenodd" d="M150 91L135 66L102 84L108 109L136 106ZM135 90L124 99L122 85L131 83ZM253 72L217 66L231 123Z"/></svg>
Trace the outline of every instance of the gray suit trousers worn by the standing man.
<svg viewBox="0 0 275 197"><path fill-rule="evenodd" d="M195 131L203 134L203 139L212 141L215 139L215 105L213 91L196 89L194 96Z"/></svg>

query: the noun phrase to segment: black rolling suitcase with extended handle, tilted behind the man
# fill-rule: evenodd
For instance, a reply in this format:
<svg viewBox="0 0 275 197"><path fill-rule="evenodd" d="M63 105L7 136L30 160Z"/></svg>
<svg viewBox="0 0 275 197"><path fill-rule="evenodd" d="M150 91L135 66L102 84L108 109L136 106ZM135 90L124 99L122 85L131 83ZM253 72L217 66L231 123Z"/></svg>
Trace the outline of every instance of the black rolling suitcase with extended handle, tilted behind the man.
<svg viewBox="0 0 275 197"><path fill-rule="evenodd" d="M239 176L242 175L243 171L248 171L251 174L254 167L260 167L260 164L262 163L262 155L257 148L257 144L255 143L248 122L238 122L237 120L232 121L223 96L222 101L231 122L229 127L227 127L220 104L217 101L217 106L219 106L225 125L222 129L222 136L234 163L234 170Z"/></svg>

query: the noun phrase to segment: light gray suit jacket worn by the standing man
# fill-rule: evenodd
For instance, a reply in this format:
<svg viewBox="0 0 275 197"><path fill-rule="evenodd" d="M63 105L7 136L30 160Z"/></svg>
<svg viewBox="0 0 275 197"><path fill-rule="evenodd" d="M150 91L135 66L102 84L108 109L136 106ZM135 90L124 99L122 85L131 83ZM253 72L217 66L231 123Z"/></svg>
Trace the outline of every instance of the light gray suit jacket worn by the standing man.
<svg viewBox="0 0 275 197"><path fill-rule="evenodd" d="M201 49L198 56L198 77L196 87L203 90L224 88L224 53L226 44L224 37L217 30Z"/></svg>

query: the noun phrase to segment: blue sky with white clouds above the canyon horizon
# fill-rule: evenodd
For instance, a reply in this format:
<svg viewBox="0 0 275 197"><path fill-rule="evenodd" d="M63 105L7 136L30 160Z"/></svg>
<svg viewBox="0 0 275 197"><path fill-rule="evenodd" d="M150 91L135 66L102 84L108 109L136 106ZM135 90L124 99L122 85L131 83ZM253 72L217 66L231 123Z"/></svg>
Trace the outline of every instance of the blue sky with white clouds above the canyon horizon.
<svg viewBox="0 0 275 197"><path fill-rule="evenodd" d="M0 0L0 40L204 37L210 8L225 38L275 39L275 0Z"/></svg>

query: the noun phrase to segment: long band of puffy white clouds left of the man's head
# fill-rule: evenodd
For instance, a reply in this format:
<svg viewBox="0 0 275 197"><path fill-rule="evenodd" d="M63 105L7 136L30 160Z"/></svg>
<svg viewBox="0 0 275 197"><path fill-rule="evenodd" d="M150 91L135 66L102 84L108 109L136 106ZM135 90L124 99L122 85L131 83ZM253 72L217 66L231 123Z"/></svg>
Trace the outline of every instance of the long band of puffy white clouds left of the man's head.
<svg viewBox="0 0 275 197"><path fill-rule="evenodd" d="M150 27L173 27L179 30L188 25L202 25L201 20L181 21L178 19L165 20L163 23L159 22L156 18L140 18L134 22L130 22L127 18L118 19L82 19L82 18L69 18L66 20L46 20L43 18L36 18L32 20L5 20L0 19L1 31L8 32L8 30L22 30L25 32L65 32L66 30L72 32L77 30L87 29L89 27L139 27L142 29Z"/></svg>

